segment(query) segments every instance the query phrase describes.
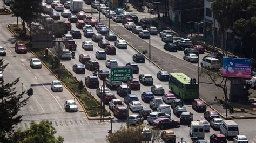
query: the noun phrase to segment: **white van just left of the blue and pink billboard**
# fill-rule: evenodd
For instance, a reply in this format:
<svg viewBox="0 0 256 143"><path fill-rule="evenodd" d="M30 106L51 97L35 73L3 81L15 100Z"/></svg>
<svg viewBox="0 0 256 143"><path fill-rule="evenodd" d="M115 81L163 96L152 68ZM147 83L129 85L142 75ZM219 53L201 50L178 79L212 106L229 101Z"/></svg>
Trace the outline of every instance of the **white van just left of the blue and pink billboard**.
<svg viewBox="0 0 256 143"><path fill-rule="evenodd" d="M213 57L204 57L201 60L201 67L206 67L210 69L220 69L220 60Z"/></svg>

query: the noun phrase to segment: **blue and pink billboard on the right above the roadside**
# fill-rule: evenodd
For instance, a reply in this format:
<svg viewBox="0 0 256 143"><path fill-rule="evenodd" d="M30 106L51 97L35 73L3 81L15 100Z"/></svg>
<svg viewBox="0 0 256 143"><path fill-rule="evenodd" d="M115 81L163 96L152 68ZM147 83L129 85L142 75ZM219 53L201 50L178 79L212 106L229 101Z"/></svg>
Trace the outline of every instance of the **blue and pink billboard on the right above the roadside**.
<svg viewBox="0 0 256 143"><path fill-rule="evenodd" d="M251 59L223 57L223 77L251 78Z"/></svg>

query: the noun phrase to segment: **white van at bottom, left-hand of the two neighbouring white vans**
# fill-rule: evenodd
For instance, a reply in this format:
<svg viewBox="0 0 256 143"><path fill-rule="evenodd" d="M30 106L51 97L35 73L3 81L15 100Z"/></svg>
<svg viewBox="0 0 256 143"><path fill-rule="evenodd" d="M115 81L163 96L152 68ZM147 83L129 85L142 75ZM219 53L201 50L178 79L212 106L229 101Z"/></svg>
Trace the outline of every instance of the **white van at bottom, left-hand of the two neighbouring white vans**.
<svg viewBox="0 0 256 143"><path fill-rule="evenodd" d="M200 121L191 121L190 124L190 137L197 137L200 139L205 138L204 124Z"/></svg>

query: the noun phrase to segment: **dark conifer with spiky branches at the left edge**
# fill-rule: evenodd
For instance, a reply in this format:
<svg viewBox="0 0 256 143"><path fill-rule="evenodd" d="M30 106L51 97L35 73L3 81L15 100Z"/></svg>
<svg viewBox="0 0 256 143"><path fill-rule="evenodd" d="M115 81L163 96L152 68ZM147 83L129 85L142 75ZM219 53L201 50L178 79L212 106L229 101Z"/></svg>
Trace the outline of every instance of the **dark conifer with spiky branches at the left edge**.
<svg viewBox="0 0 256 143"><path fill-rule="evenodd" d="M2 69L8 65L2 63ZM19 82L17 78L14 82L2 82L0 88L0 142L10 142L14 132L14 125L22 121L22 115L17 115L18 111L26 105L29 97L24 97L25 91L18 93L16 84Z"/></svg>

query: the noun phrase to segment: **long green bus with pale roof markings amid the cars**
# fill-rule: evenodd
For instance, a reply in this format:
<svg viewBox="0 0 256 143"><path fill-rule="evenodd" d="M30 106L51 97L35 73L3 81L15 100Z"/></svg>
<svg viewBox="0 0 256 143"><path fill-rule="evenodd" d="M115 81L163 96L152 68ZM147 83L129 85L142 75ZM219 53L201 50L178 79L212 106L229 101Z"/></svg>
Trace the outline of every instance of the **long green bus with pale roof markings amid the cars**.
<svg viewBox="0 0 256 143"><path fill-rule="evenodd" d="M183 73L170 73L169 89L184 100L199 98L196 79L192 79Z"/></svg>

